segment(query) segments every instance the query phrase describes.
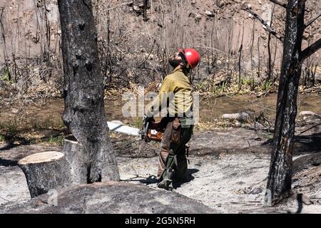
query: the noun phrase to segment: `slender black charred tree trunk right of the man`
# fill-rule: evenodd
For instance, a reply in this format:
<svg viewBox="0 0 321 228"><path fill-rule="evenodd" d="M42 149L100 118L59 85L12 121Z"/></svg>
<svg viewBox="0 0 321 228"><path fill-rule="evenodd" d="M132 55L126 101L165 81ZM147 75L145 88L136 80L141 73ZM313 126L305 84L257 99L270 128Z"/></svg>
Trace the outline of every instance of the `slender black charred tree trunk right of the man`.
<svg viewBox="0 0 321 228"><path fill-rule="evenodd" d="M286 11L274 145L267 180L267 190L270 190L272 204L287 197L292 184L292 148L297 115L297 90L302 68L300 53L305 29L305 1L287 1Z"/></svg>

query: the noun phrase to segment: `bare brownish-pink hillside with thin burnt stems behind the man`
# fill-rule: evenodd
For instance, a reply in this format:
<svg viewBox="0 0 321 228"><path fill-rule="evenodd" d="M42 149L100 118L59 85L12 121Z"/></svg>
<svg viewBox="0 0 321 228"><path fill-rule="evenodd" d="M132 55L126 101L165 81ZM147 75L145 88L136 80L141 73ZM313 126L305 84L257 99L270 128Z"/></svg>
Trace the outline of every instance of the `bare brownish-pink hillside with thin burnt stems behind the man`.
<svg viewBox="0 0 321 228"><path fill-rule="evenodd" d="M272 28L283 33L285 10L277 5L273 8L268 0L153 0L148 1L147 21L143 20L143 1L93 1L106 87L161 81L170 70L168 56L182 46L201 53L202 61L192 76L198 90L213 90L213 85L220 86L227 79L233 83L239 73L244 84L265 81L269 36L259 21L241 9L243 4L267 24L273 14ZM56 0L1 0L0 5L1 78L14 83L1 82L1 95L10 94L4 91L6 86L16 93L58 95L63 80ZM320 10L320 1L307 1L306 21ZM302 46L320 38L320 25L319 19L307 29ZM270 53L275 81L282 46L273 36ZM302 79L313 73L320 78L320 51L304 64Z"/></svg>

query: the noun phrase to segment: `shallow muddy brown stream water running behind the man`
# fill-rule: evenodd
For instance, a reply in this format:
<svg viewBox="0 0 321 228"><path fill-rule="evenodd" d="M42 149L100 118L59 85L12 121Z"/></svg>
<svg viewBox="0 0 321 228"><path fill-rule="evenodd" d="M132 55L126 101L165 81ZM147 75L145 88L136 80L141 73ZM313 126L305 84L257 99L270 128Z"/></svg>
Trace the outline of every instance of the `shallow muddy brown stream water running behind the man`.
<svg viewBox="0 0 321 228"><path fill-rule="evenodd" d="M200 121L211 121L225 113L248 111L252 116L264 112L273 121L275 116L277 94L256 98L254 95L224 96L218 98L200 97ZM108 120L121 120L123 123L134 123L136 118L124 118L121 97L108 97L105 109ZM298 97L298 113L310 110L321 114L321 96L317 94L300 94ZM20 108L20 109L19 109ZM46 100L46 103L34 105L6 105L0 110L0 125L16 125L19 128L61 128L63 122L63 99Z"/></svg>

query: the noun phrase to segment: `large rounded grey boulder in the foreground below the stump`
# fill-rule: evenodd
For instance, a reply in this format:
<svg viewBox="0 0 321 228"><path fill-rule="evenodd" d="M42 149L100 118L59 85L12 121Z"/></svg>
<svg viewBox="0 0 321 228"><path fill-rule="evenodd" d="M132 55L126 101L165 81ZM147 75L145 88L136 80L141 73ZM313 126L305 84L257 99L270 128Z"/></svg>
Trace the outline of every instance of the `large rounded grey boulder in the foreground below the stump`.
<svg viewBox="0 0 321 228"><path fill-rule="evenodd" d="M23 204L6 204L0 213L213 214L218 211L177 192L109 181L66 187L57 190L54 196L41 195Z"/></svg>

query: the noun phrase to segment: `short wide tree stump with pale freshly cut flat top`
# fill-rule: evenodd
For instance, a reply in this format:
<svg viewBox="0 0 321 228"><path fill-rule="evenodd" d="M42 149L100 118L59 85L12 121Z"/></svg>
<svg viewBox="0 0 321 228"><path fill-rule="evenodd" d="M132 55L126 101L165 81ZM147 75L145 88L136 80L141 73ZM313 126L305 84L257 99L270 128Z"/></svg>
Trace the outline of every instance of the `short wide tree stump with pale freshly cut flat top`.
<svg viewBox="0 0 321 228"><path fill-rule="evenodd" d="M18 162L26 176L31 197L71 184L70 165L61 152L39 152Z"/></svg>

